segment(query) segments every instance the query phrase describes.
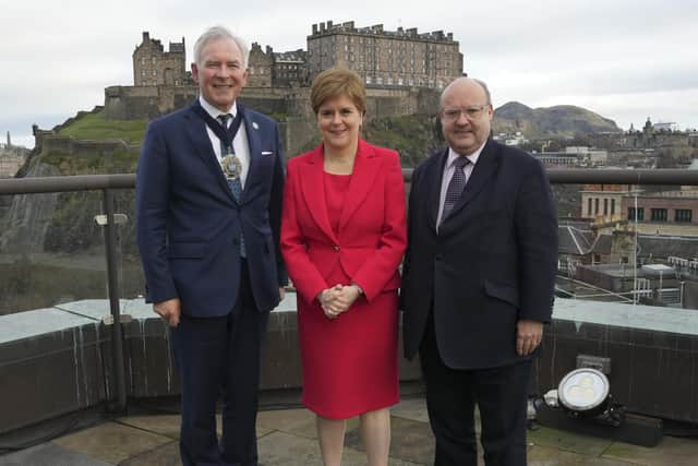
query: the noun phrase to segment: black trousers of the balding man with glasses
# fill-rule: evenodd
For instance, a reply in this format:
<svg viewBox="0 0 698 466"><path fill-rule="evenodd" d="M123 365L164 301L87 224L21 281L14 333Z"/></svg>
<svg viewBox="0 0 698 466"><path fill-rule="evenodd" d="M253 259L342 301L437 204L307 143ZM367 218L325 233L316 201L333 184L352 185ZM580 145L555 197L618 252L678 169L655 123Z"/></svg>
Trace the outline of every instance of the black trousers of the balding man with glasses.
<svg viewBox="0 0 698 466"><path fill-rule="evenodd" d="M514 337L514 336L513 336ZM474 406L488 466L526 466L526 407L530 361L472 370L444 365L430 315L420 346L426 408L436 438L435 466L476 466Z"/></svg>

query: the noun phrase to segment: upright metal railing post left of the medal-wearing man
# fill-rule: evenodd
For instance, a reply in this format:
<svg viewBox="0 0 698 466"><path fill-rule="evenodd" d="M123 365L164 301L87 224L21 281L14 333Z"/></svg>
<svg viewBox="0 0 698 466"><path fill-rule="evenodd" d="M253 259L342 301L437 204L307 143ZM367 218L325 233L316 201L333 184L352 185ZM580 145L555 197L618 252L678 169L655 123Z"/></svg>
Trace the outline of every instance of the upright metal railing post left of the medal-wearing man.
<svg viewBox="0 0 698 466"><path fill-rule="evenodd" d="M127 383L123 363L123 337L121 328L121 309L119 304L119 278L117 275L117 244L116 225L113 220L113 192L103 190L104 212L107 216L105 225L105 251L107 254L107 287L109 294L109 309L111 311L111 369L113 373L113 392L116 406L110 408L116 413L127 409Z"/></svg>

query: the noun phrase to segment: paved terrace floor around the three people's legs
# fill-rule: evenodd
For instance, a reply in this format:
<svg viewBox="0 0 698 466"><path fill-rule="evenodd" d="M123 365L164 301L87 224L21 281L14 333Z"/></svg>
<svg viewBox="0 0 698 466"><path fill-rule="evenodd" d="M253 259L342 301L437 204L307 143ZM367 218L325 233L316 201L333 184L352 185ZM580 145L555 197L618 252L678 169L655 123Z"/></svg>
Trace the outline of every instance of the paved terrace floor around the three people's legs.
<svg viewBox="0 0 698 466"><path fill-rule="evenodd" d="M434 440L424 401L393 409L390 466L432 464ZM345 466L365 465L357 419L348 422ZM180 465L179 416L129 416L98 423L27 450L0 456L0 466ZM321 465L314 417L305 409L260 413L260 462L264 466ZM698 441L665 437L647 449L540 428L529 432L529 466L696 466Z"/></svg>

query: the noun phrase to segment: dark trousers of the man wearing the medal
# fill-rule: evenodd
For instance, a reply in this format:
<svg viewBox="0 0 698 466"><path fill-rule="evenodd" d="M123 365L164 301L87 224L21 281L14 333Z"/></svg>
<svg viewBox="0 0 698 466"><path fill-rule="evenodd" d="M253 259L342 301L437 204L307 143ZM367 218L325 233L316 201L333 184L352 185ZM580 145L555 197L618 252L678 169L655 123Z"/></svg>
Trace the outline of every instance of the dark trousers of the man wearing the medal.
<svg viewBox="0 0 698 466"><path fill-rule="evenodd" d="M267 318L267 312L256 310L243 261L240 298L232 312L220 318L182 314L172 331L182 384L180 452L185 466L257 464L257 389ZM215 415L221 393L219 442Z"/></svg>

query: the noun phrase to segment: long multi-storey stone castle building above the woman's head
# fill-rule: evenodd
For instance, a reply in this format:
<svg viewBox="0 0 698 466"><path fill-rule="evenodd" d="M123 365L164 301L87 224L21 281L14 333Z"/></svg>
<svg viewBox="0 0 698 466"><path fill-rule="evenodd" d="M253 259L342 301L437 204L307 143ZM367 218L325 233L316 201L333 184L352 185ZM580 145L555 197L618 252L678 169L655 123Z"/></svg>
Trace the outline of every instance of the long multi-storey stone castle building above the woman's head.
<svg viewBox="0 0 698 466"><path fill-rule="evenodd" d="M353 21L313 24L308 36L309 77L336 65L354 70L369 86L442 88L462 75L464 58L453 33L384 31L382 24L357 28Z"/></svg>

